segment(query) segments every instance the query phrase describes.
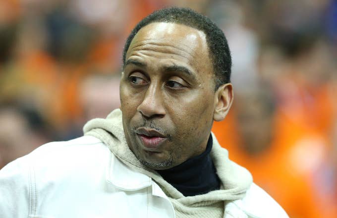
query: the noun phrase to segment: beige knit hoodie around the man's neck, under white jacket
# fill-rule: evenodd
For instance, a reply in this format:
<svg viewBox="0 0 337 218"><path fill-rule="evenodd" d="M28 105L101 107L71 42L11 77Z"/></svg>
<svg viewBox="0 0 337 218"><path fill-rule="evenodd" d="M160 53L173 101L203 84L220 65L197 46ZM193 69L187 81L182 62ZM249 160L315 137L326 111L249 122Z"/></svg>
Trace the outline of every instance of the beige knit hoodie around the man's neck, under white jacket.
<svg viewBox="0 0 337 218"><path fill-rule="evenodd" d="M227 150L219 145L213 133L211 158L222 182L221 190L184 197L155 170L140 163L131 152L126 143L120 109L113 110L106 119L90 120L83 127L83 131L85 135L92 135L102 140L121 162L156 181L169 197L177 218L222 218L225 204L228 201L242 199L252 184L249 171L228 159Z"/></svg>

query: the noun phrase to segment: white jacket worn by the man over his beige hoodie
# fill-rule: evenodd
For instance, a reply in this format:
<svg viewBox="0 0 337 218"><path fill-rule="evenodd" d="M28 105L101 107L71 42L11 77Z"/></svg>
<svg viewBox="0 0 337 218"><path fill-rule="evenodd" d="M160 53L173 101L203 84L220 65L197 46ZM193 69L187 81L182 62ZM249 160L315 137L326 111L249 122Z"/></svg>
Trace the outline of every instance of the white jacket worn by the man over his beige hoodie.
<svg viewBox="0 0 337 218"><path fill-rule="evenodd" d="M0 218L174 218L163 190L99 139L52 142L0 170ZM287 218L252 184L224 218Z"/></svg>

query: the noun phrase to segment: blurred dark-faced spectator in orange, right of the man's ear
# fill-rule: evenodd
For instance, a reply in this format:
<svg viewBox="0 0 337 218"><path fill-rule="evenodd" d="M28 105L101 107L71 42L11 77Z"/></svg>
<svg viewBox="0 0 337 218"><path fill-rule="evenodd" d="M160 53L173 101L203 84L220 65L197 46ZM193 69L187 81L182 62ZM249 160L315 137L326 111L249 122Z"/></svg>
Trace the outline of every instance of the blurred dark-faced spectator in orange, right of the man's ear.
<svg viewBox="0 0 337 218"><path fill-rule="evenodd" d="M226 120L213 127L229 157L249 169L290 217L320 217L309 178L324 161L324 138L284 116L268 86L251 85L235 96L231 128Z"/></svg>

